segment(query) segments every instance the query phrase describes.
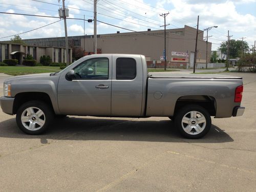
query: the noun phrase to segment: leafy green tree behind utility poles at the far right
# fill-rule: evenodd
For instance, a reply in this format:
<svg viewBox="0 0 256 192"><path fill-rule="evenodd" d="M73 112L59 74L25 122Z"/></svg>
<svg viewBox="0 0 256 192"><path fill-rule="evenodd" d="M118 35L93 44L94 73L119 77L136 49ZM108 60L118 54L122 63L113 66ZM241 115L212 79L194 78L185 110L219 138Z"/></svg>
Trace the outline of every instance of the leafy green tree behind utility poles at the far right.
<svg viewBox="0 0 256 192"><path fill-rule="evenodd" d="M227 45L228 45L227 41L222 42L218 50L221 51L221 53L226 54ZM231 39L229 41L229 57L230 58L241 57L242 53L247 53L248 51L249 51L248 42L242 41L242 40L235 40L235 39Z"/></svg>

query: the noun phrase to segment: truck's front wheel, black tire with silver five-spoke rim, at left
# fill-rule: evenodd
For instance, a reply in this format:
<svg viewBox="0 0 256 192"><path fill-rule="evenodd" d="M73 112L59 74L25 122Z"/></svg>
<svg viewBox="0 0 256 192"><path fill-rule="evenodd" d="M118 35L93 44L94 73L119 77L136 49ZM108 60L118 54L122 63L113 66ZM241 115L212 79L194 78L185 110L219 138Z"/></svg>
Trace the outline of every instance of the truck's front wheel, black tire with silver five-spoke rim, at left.
<svg viewBox="0 0 256 192"><path fill-rule="evenodd" d="M19 107L16 123L24 133L39 135L47 130L53 116L53 111L47 103L28 101Z"/></svg>

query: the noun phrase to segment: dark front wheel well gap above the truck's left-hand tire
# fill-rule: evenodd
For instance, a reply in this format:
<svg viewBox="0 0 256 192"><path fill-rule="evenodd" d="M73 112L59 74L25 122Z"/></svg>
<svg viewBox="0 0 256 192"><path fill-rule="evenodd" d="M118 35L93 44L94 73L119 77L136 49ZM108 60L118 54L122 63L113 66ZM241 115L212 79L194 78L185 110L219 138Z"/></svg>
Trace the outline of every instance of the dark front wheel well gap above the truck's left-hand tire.
<svg viewBox="0 0 256 192"><path fill-rule="evenodd" d="M45 102L45 103L49 104L49 106L53 109L51 98L47 93L26 92L26 93L18 93L17 95L15 95L15 99L14 99L14 103L13 103L13 109L12 109L13 114L17 113L17 110L19 109L19 107L22 104L24 104L28 101L32 101L32 100Z"/></svg>

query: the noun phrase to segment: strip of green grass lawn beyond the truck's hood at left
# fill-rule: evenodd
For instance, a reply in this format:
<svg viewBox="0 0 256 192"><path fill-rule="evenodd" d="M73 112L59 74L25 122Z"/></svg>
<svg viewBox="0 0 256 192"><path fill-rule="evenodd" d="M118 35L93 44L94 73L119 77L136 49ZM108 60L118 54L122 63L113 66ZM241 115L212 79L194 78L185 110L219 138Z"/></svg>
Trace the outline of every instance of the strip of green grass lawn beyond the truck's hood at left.
<svg viewBox="0 0 256 192"><path fill-rule="evenodd" d="M5 73L8 75L26 75L33 73L54 73L60 71L59 67L50 66L0 66L0 73Z"/></svg>

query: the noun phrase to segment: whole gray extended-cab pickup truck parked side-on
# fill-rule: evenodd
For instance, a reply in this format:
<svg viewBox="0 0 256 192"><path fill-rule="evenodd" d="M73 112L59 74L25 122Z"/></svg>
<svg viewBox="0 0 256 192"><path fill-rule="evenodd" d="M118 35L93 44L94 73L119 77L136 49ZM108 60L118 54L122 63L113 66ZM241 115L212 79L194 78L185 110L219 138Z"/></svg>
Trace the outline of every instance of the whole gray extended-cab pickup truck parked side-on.
<svg viewBox="0 0 256 192"><path fill-rule="evenodd" d="M241 77L147 73L143 55L82 57L57 73L23 75L4 82L3 112L20 130L41 134L55 116L169 117L180 133L203 137L211 117L241 116ZM156 128L157 129L157 128Z"/></svg>

